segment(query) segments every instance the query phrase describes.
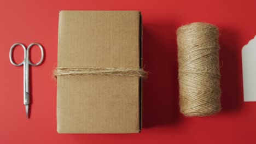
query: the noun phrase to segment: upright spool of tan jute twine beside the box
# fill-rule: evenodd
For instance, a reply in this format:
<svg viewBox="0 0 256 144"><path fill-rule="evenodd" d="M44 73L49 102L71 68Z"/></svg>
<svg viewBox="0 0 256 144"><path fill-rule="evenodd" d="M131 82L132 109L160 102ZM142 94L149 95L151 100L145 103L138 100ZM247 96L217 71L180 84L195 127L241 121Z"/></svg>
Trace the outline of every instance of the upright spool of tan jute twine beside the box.
<svg viewBox="0 0 256 144"><path fill-rule="evenodd" d="M195 22L177 30L179 105L185 116L208 116L220 111L219 32Z"/></svg>

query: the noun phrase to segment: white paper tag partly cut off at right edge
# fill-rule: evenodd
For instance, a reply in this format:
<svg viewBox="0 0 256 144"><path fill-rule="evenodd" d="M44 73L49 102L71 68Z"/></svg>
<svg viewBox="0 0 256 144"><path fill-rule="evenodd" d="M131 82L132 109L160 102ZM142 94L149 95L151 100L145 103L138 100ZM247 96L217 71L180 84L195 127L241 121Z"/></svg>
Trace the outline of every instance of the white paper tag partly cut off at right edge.
<svg viewBox="0 0 256 144"><path fill-rule="evenodd" d="M256 101L256 35L254 39L243 46L243 99Z"/></svg>

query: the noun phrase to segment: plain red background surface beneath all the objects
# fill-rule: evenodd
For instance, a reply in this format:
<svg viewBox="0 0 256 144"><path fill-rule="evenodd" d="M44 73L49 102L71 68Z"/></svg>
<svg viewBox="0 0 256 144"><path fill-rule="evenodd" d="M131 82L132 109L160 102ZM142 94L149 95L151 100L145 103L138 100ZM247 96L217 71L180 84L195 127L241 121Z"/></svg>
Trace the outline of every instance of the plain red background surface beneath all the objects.
<svg viewBox="0 0 256 144"><path fill-rule="evenodd" d="M1 1L0 143L256 143L256 103L243 103L241 48L256 34L256 1ZM143 86L140 134L57 134L59 10L141 10L143 54L152 74ZM220 30L223 110L212 117L179 113L176 29L204 21ZM45 61L31 67L31 118L23 105L23 69L9 62L14 43L39 42ZM15 59L22 61L22 49ZM20 54L20 55L19 55ZM39 61L39 49L32 50Z"/></svg>

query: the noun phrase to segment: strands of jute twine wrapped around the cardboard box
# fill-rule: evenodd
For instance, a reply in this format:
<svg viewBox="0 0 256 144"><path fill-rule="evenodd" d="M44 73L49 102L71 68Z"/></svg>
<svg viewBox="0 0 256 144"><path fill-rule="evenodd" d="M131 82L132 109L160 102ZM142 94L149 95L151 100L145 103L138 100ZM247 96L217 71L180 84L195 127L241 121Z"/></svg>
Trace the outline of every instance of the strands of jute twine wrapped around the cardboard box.
<svg viewBox="0 0 256 144"><path fill-rule="evenodd" d="M97 68L97 67L58 67L54 76L73 75L106 75L106 76L136 76L146 78L148 73L136 68Z"/></svg>

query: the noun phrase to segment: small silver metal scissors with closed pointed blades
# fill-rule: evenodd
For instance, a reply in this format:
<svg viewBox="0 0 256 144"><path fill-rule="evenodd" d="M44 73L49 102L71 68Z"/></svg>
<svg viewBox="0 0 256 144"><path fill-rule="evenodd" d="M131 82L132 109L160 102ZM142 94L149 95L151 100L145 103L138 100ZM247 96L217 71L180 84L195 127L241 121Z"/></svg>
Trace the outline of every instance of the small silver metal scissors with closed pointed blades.
<svg viewBox="0 0 256 144"><path fill-rule="evenodd" d="M24 61L22 61L21 63L17 64L13 61L13 50L16 46L21 46L24 49ZM34 45L37 45L40 50L41 50L41 59L38 63L34 64L30 61L30 49L31 47L33 47ZM11 64L15 65L15 66L21 66L24 65L24 105L25 105L25 109L26 109L26 116L27 118L29 118L29 105L30 105L30 76L29 76L29 66L33 65L33 66L37 66L42 64L43 59L44 59L44 50L43 50L43 46L38 44L38 43L32 43L30 44L27 49L26 46L21 44L21 43L16 43L13 46L10 47L10 53L9 53L9 58L10 58L10 62Z"/></svg>

